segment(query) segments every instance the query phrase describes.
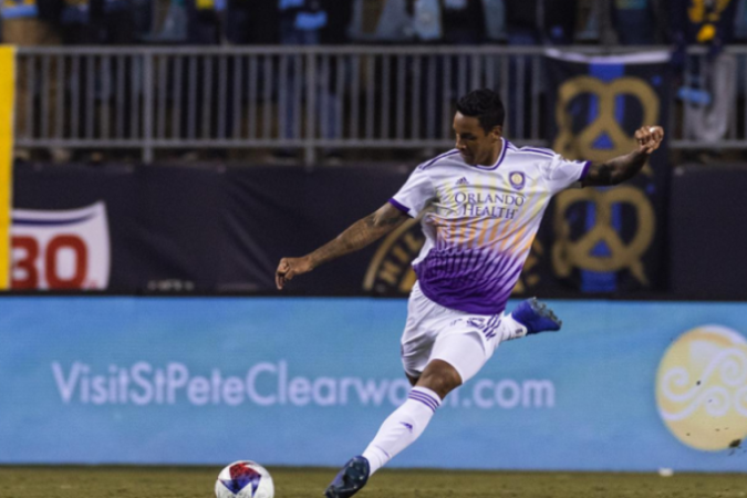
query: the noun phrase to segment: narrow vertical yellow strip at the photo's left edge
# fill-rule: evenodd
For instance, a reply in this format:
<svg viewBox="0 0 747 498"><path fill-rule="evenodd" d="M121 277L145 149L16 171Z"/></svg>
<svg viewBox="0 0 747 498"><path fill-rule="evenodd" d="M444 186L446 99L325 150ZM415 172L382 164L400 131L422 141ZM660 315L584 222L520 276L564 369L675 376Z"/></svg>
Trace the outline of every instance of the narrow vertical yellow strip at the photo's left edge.
<svg viewBox="0 0 747 498"><path fill-rule="evenodd" d="M0 290L10 272L10 210L15 104L15 49L0 46Z"/></svg>

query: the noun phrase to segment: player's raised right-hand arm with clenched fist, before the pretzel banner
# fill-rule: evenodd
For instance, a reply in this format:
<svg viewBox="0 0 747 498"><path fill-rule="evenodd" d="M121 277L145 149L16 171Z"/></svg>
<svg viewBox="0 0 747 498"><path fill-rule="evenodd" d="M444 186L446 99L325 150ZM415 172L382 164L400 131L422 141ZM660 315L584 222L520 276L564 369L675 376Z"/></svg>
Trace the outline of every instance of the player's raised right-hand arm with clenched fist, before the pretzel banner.
<svg viewBox="0 0 747 498"><path fill-rule="evenodd" d="M644 126L635 132L639 146L624 156L604 163L592 163L583 178L583 186L618 185L634 177L646 164L649 156L658 148L664 138L661 126Z"/></svg>

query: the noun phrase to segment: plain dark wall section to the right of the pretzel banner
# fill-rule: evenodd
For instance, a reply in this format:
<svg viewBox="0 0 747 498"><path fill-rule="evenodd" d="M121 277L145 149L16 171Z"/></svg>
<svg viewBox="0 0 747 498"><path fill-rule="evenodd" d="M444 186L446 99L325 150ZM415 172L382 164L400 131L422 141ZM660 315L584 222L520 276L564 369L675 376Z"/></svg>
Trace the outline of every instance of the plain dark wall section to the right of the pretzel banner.
<svg viewBox="0 0 747 498"><path fill-rule="evenodd" d="M747 299L747 165L674 172L671 281L681 295Z"/></svg>

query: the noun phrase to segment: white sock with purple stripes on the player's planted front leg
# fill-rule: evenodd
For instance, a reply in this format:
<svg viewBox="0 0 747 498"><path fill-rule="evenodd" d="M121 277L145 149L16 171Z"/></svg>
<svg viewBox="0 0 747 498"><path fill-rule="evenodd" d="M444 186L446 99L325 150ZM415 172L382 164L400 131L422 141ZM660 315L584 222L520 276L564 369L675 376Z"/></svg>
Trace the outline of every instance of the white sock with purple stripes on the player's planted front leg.
<svg viewBox="0 0 747 498"><path fill-rule="evenodd" d="M440 397L436 393L426 387L413 387L407 401L384 421L376 437L363 452L371 466L369 476L415 443L438 406Z"/></svg>

